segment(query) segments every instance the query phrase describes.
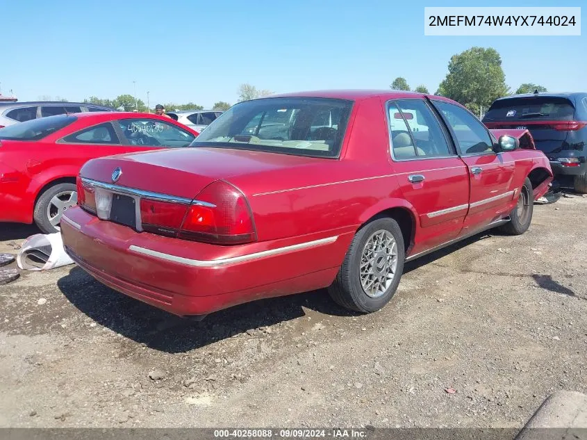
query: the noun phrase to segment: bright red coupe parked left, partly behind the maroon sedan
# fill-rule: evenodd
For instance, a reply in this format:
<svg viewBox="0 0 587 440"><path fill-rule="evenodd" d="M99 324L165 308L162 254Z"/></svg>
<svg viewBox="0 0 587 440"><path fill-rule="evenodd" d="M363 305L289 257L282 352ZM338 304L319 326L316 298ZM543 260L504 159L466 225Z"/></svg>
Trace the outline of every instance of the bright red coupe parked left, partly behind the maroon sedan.
<svg viewBox="0 0 587 440"><path fill-rule="evenodd" d="M96 112L56 115L0 129L0 222L58 231L76 204L76 176L92 158L185 147L198 136L169 117Z"/></svg>

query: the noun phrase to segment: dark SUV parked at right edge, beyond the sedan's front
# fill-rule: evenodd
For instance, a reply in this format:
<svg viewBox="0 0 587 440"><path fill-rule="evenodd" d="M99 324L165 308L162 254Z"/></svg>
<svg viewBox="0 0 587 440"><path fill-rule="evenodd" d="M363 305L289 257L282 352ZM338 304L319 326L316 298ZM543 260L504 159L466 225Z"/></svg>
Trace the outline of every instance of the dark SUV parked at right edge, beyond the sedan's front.
<svg viewBox="0 0 587 440"><path fill-rule="evenodd" d="M572 177L587 193L587 93L534 93L496 99L483 124L489 129L528 129L549 158L555 177Z"/></svg>

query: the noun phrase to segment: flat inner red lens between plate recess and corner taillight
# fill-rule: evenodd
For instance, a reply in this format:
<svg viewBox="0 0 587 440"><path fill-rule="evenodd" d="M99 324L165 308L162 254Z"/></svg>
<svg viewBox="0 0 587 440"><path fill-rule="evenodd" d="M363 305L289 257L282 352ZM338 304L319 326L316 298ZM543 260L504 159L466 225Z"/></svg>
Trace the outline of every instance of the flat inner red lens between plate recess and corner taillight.
<svg viewBox="0 0 587 440"><path fill-rule="evenodd" d="M176 236L188 205L158 200L141 199L142 229L167 236Z"/></svg>

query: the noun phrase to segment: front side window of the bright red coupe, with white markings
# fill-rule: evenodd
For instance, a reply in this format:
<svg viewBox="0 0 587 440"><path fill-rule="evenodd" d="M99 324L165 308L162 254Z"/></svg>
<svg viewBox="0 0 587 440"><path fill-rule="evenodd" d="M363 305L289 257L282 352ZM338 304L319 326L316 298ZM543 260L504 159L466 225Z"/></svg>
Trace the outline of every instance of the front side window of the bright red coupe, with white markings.
<svg viewBox="0 0 587 440"><path fill-rule="evenodd" d="M196 138L174 124L156 119L123 119L117 123L129 145L187 147Z"/></svg>

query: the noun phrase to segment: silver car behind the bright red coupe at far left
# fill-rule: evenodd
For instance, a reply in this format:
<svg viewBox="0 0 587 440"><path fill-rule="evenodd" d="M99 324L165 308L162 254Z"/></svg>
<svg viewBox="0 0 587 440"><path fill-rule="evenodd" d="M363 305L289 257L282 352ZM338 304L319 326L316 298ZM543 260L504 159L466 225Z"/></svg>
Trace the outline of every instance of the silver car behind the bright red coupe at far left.
<svg viewBox="0 0 587 440"><path fill-rule="evenodd" d="M29 101L0 103L0 128L38 117L82 113L85 111L116 111L114 108L88 102Z"/></svg>

